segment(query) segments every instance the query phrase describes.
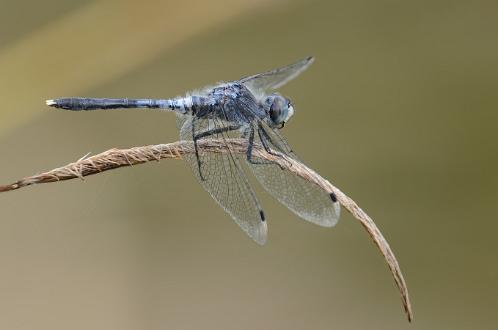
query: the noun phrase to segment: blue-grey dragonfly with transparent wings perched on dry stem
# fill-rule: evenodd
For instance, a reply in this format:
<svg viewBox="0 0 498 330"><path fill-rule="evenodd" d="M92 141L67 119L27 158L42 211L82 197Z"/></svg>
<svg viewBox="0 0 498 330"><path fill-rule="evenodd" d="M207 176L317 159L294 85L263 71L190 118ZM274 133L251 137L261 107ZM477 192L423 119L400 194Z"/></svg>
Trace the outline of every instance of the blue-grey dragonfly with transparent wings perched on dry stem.
<svg viewBox="0 0 498 330"><path fill-rule="evenodd" d="M194 146L193 152L183 157L194 175L240 228L263 245L268 232L266 217L246 176L247 168L266 191L302 219L324 227L334 226L339 219L340 206L334 193L255 155L255 150L262 147L271 155L299 161L280 133L294 114L294 103L277 89L296 78L313 61L313 57L307 57L170 99L69 97L46 103L73 111L137 108L174 112L180 140ZM230 148L229 141L233 138L246 141L245 153L235 153ZM225 143L228 151L203 151L199 143L206 139Z"/></svg>

